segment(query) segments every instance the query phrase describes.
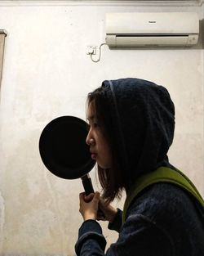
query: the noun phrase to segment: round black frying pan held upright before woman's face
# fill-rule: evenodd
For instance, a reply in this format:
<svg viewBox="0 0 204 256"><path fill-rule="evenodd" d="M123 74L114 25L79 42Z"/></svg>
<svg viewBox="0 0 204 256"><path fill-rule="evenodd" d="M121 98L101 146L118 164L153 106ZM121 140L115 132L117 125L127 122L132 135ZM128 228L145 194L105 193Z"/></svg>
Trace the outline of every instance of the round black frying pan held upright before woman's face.
<svg viewBox="0 0 204 256"><path fill-rule="evenodd" d="M66 115L53 119L42 130L39 151L43 164L51 173L64 179L81 177L86 195L94 192L88 173L95 165L86 145L87 124Z"/></svg>

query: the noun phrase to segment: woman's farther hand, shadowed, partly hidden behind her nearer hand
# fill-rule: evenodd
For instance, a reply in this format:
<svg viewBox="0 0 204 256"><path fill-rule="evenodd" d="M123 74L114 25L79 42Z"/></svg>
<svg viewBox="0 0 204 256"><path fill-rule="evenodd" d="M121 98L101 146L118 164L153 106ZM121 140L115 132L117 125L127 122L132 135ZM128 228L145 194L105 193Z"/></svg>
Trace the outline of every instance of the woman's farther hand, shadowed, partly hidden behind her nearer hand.
<svg viewBox="0 0 204 256"><path fill-rule="evenodd" d="M115 209L112 205L105 202L102 197L100 197L99 209L97 220L113 222L113 219L118 213L118 209Z"/></svg>

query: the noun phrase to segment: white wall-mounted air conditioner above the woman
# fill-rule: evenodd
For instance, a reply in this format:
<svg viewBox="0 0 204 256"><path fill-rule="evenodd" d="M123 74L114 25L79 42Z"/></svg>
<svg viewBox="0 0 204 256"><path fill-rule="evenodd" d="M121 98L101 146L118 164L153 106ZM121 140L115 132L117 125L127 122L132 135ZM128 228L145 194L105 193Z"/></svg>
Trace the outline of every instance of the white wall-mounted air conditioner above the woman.
<svg viewBox="0 0 204 256"><path fill-rule="evenodd" d="M106 15L109 47L190 47L197 44L199 19L193 12L124 12Z"/></svg>

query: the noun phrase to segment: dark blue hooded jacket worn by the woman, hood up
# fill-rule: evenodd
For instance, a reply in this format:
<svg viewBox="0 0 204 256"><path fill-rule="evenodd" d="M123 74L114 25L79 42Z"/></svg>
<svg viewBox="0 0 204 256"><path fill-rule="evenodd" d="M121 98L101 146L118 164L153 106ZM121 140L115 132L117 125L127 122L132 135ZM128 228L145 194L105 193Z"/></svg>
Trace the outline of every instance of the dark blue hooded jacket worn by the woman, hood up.
<svg viewBox="0 0 204 256"><path fill-rule="evenodd" d="M119 166L125 170L126 192L140 175L168 161L175 129L175 108L166 88L142 79L104 81L104 99L111 115L111 134ZM204 255L203 209L188 193L172 184L153 184L135 198L122 225L122 211L109 228L119 232L106 255ZM100 224L82 223L79 255L104 255Z"/></svg>

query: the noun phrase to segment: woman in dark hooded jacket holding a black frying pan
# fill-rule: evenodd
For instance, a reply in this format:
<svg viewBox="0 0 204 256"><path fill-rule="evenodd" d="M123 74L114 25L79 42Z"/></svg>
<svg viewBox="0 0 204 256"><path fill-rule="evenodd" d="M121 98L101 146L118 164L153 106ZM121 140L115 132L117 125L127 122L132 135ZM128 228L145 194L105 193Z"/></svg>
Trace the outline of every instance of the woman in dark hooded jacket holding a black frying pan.
<svg viewBox="0 0 204 256"><path fill-rule="evenodd" d="M88 95L87 103L86 143L98 165L103 195L80 194L84 222L75 245L77 255L104 255L100 219L119 232L106 255L204 255L204 208L195 196L165 180L135 192L149 173L179 172L167 157L175 109L166 88L141 79L104 81ZM122 213L109 203L123 190Z"/></svg>

